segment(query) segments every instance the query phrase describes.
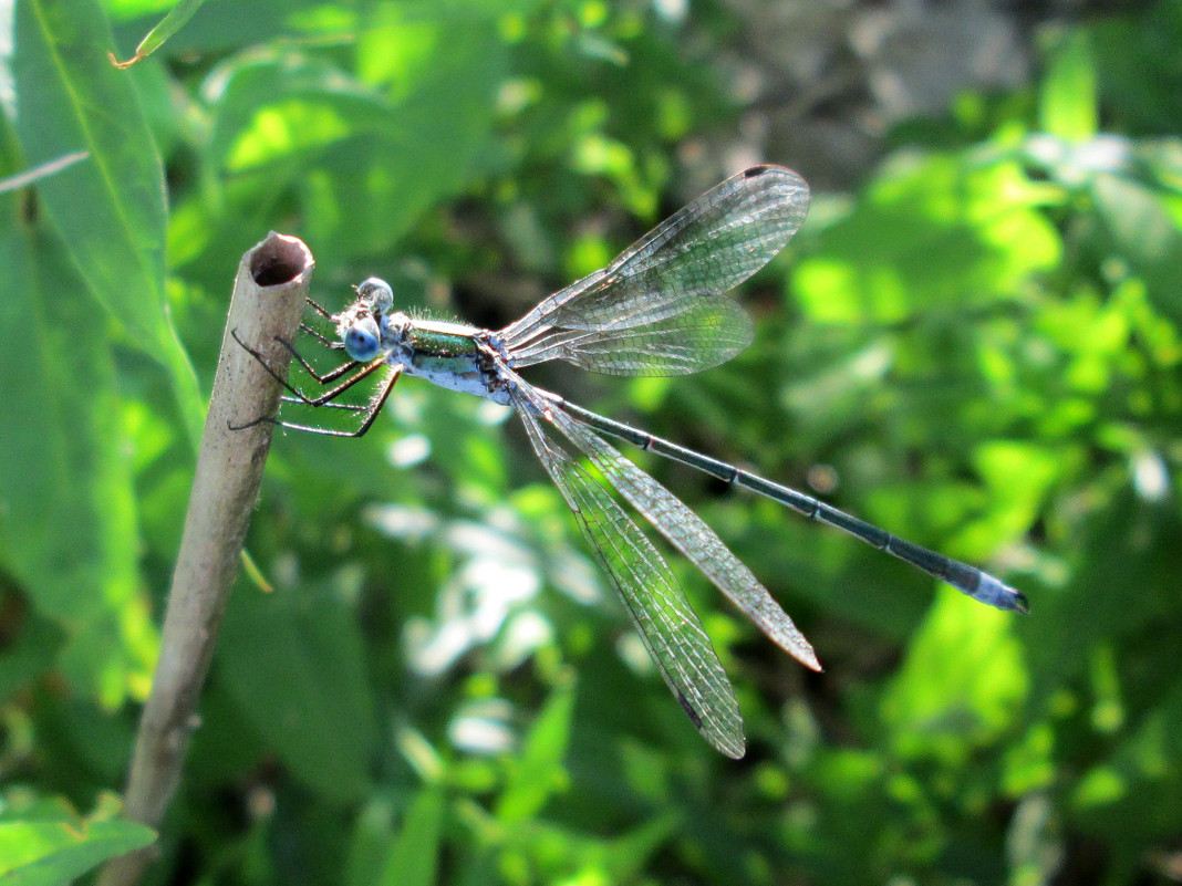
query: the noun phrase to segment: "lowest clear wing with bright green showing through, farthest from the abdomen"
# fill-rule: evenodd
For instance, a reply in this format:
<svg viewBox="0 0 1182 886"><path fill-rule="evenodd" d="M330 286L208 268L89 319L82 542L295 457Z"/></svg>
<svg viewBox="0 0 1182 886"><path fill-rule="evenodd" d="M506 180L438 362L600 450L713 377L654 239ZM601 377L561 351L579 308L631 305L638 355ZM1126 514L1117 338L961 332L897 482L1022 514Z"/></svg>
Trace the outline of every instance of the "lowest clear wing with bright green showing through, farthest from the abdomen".
<svg viewBox="0 0 1182 886"><path fill-rule="evenodd" d="M513 403L533 451L574 513L661 676L706 741L741 757L746 742L734 690L669 565L608 491L546 437L532 405L535 396L521 385Z"/></svg>

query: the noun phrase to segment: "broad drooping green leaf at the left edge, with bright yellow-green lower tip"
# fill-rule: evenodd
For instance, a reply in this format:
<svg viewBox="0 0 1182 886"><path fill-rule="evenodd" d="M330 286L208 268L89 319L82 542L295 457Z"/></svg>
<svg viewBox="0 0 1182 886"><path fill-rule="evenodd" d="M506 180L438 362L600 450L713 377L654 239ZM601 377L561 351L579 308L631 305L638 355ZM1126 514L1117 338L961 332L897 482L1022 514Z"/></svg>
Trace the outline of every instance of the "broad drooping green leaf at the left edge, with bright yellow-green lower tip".
<svg viewBox="0 0 1182 886"><path fill-rule="evenodd" d="M157 638L109 337L52 247L0 233L0 556L65 630L71 684L115 706L143 695Z"/></svg>

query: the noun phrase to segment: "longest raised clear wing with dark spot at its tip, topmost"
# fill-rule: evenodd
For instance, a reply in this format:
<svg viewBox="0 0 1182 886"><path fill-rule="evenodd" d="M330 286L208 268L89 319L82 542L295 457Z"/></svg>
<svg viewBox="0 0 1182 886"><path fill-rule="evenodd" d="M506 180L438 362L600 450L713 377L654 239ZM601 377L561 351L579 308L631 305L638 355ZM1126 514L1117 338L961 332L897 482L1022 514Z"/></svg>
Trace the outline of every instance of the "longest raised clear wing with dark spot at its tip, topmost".
<svg viewBox="0 0 1182 886"><path fill-rule="evenodd" d="M501 330L500 338L512 357L544 347L544 339L561 338L564 331L597 332L612 340L621 330L693 312L766 265L804 222L807 209L808 185L800 176L782 167L753 167L671 215L603 271L541 301ZM725 311L717 317L733 320ZM665 334L676 339L682 328L694 327L674 325Z"/></svg>

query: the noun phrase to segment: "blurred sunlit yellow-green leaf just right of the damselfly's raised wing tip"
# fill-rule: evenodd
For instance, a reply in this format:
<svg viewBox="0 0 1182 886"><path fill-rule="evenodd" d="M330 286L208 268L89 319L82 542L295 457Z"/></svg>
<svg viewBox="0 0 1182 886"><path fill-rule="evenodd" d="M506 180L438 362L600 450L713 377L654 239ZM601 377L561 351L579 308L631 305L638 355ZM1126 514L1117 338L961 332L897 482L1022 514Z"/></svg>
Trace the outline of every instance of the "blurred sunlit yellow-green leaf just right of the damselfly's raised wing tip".
<svg viewBox="0 0 1182 886"><path fill-rule="evenodd" d="M1059 261L1059 236L1039 211L1045 197L1014 163L898 157L821 233L793 291L813 320L851 324L1012 297Z"/></svg>

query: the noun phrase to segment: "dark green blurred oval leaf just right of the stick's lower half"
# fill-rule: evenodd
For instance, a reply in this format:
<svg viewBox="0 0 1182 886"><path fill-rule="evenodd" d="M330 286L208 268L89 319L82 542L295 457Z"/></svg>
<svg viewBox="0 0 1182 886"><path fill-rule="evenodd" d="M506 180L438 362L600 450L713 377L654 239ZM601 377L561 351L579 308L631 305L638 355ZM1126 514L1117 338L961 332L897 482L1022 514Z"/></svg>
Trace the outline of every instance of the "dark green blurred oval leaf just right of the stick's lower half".
<svg viewBox="0 0 1182 886"><path fill-rule="evenodd" d="M219 677L242 715L291 768L332 801L370 781L377 742L356 613L312 587L240 587L217 652Z"/></svg>

